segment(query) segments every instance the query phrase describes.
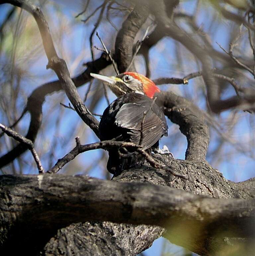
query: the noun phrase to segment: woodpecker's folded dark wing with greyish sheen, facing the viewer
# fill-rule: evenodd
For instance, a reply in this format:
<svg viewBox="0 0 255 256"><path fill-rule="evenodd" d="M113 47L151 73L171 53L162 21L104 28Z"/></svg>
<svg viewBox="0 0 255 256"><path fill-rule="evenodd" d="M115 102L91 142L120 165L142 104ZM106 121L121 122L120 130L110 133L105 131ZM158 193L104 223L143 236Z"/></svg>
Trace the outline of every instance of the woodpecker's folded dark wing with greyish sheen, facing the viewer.
<svg viewBox="0 0 255 256"><path fill-rule="evenodd" d="M151 147L162 135L167 135L166 119L161 109L149 98L135 103L126 103L118 111L115 124L128 129L130 141L140 142L141 128L144 149Z"/></svg>

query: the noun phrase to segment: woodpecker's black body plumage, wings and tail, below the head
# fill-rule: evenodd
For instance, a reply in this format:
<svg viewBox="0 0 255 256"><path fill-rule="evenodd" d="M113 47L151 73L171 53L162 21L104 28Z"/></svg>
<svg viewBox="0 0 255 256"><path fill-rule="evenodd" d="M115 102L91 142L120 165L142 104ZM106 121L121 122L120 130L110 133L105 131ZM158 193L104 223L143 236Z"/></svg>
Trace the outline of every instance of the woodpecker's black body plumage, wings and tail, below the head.
<svg viewBox="0 0 255 256"><path fill-rule="evenodd" d="M99 136L101 140L116 138L118 141L139 144L141 127L143 149L158 147L161 136L167 136L166 119L156 103L145 95L128 93L116 99L104 111L99 124ZM121 158L118 149L111 149L107 169L117 175L123 169L143 162L140 155Z"/></svg>

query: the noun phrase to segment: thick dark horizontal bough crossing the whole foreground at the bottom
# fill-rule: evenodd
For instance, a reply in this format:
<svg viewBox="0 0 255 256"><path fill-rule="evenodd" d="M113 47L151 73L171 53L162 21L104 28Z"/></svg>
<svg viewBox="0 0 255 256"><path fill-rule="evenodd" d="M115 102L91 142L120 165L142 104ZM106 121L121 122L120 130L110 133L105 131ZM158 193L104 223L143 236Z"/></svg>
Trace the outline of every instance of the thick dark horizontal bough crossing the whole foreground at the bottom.
<svg viewBox="0 0 255 256"><path fill-rule="evenodd" d="M107 220L161 225L171 232L174 227L176 233L182 233L185 226L188 235L183 239L193 242L226 235L255 238L254 198L220 200L169 187L84 176L3 175L0 182L4 198L0 203L4 218L0 221L4 227L15 224L40 232L80 221ZM4 245L15 230L7 228L7 233L0 234Z"/></svg>

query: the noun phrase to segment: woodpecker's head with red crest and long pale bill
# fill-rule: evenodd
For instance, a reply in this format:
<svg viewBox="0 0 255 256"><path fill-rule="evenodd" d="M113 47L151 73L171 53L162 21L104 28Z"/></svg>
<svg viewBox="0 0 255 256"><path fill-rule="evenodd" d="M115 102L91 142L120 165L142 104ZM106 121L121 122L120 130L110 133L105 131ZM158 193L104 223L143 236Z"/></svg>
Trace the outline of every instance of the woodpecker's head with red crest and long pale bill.
<svg viewBox="0 0 255 256"><path fill-rule="evenodd" d="M90 73L90 75L106 83L117 97L127 93L140 93L153 98L155 93L160 92L159 88L150 79L135 72L125 72L116 77L94 73Z"/></svg>

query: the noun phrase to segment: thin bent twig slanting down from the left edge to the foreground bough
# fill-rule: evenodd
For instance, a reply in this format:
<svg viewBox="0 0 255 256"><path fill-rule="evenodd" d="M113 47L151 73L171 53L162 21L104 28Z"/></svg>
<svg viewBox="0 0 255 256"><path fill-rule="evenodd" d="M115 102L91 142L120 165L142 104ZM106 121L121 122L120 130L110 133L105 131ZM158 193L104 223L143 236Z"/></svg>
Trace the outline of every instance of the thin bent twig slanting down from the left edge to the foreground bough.
<svg viewBox="0 0 255 256"><path fill-rule="evenodd" d="M4 133L6 133L8 136L10 137L13 137L14 139L16 139L17 141L21 142L21 143L24 143L28 146L29 150L31 151L35 161L36 161L36 165L37 165L37 168L39 170L39 173L43 173L44 172L44 169L42 167L42 163L40 161L40 158L34 148L34 143L30 140L30 139L27 139L26 137L22 136L21 134L19 134L18 132L12 130L11 128L8 128L2 124L0 124L0 128L2 129L2 131Z"/></svg>

